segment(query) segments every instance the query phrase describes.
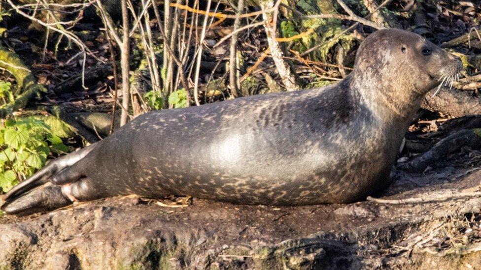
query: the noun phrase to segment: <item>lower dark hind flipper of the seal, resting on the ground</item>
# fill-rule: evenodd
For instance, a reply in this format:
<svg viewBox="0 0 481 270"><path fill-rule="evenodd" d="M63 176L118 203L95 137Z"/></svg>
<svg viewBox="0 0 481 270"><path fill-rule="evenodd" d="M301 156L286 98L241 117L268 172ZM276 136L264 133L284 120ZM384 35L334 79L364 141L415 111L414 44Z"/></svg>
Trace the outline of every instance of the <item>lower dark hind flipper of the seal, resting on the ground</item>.
<svg viewBox="0 0 481 270"><path fill-rule="evenodd" d="M20 197L8 199L1 210L7 214L29 215L42 211L55 210L72 204L72 201L62 193L59 185L46 185L35 188Z"/></svg>

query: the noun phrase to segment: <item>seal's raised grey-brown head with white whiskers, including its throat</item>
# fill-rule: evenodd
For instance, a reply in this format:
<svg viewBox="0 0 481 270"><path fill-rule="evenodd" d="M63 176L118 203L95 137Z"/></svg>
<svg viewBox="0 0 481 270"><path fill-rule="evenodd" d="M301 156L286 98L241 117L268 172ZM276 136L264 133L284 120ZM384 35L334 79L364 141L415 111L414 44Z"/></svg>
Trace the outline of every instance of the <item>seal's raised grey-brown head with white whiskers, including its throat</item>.
<svg viewBox="0 0 481 270"><path fill-rule="evenodd" d="M378 30L359 46L353 78L368 102L398 115L417 110L424 95L454 80L461 60L424 37L399 29Z"/></svg>

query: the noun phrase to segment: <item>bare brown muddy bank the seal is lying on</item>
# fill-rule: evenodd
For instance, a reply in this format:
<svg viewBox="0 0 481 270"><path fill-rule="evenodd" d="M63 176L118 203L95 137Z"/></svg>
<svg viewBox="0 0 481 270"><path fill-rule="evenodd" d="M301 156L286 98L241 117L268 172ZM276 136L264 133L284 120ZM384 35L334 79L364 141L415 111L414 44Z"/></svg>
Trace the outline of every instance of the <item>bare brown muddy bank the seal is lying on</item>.
<svg viewBox="0 0 481 270"><path fill-rule="evenodd" d="M468 165L469 164L469 165ZM424 174L395 171L388 199L475 188L459 153ZM1 269L453 269L480 265L481 199L265 207L119 197L0 218Z"/></svg>

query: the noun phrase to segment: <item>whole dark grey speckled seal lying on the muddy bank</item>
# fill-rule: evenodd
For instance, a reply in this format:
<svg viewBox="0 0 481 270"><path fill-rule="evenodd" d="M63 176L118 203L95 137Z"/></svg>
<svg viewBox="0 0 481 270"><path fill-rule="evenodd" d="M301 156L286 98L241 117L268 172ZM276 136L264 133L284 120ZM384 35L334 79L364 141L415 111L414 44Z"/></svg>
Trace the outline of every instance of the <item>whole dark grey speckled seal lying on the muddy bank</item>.
<svg viewBox="0 0 481 270"><path fill-rule="evenodd" d="M424 95L461 61L404 30L360 45L325 88L144 114L49 163L3 196L9 214L136 194L235 204L349 203L384 189Z"/></svg>

